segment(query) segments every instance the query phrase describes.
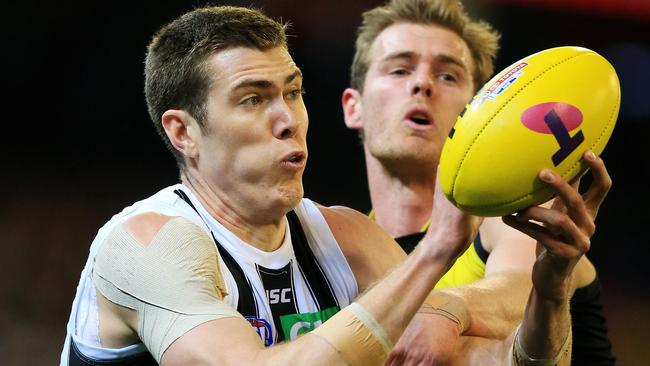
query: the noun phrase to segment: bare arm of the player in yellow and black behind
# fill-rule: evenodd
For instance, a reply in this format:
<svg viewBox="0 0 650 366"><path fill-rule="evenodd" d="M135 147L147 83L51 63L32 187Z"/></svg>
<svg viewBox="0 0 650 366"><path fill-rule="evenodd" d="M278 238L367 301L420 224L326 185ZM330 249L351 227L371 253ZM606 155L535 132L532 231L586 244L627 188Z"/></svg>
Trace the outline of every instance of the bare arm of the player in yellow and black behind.
<svg viewBox="0 0 650 366"><path fill-rule="evenodd" d="M480 346L472 349L478 353L494 353L503 348L501 342L487 340L506 338L521 322L531 288L535 241L506 226L500 218L498 222L492 218L484 220L480 228L482 241L493 239L494 231L487 232L486 226L496 226L503 245L490 248L485 278L465 286L433 291L430 302L446 302L442 310L455 315L442 311L418 314L390 355L389 364L453 363L459 357L459 344L467 343L464 339L467 335L481 336L467 337L478 339L472 342Z"/></svg>

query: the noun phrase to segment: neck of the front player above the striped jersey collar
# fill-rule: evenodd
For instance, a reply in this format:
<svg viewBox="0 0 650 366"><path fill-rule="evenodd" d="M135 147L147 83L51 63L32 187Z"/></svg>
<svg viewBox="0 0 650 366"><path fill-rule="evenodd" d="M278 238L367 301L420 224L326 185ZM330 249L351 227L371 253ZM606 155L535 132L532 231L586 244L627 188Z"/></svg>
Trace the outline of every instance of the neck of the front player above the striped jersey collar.
<svg viewBox="0 0 650 366"><path fill-rule="evenodd" d="M280 247L286 231L284 215L264 217L260 211L246 210L229 202L198 174L181 173L181 181L192 190L206 211L245 243L265 252Z"/></svg>

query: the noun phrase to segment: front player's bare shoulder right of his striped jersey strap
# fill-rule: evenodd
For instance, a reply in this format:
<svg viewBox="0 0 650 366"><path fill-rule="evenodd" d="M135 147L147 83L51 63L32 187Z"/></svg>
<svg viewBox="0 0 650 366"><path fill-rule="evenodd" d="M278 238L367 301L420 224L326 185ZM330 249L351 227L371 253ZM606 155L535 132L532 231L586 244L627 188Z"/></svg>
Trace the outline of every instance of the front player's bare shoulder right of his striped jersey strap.
<svg viewBox="0 0 650 366"><path fill-rule="evenodd" d="M343 206L318 206L363 291L406 258L406 253L366 215Z"/></svg>

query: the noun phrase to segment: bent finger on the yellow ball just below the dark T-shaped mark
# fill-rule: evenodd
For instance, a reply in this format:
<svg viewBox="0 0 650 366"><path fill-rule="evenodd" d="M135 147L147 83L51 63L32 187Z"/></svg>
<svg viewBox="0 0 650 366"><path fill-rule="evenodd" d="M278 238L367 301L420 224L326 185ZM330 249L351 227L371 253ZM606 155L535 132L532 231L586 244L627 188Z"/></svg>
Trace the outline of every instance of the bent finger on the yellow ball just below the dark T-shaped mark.
<svg viewBox="0 0 650 366"><path fill-rule="evenodd" d="M555 190L566 207L567 215L575 224L592 235L595 230L593 217L587 210L580 192L550 169L543 169L539 173L539 178Z"/></svg>

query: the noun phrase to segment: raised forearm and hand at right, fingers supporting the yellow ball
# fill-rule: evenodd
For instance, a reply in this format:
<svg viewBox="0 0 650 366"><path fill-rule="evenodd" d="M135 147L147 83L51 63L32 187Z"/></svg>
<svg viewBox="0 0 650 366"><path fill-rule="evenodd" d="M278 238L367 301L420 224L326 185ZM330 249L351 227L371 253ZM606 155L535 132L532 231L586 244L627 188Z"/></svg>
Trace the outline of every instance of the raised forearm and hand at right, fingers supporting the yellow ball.
<svg viewBox="0 0 650 366"><path fill-rule="evenodd" d="M471 360L498 360L503 365L569 365L571 363L571 319L569 300L574 290L577 263L589 250L594 220L611 187L603 161L585 153L593 183L580 195L578 183L568 184L558 175L540 178L552 186L558 198L551 208L531 207L504 221L537 240L532 273L533 287L518 329L505 341L466 339L457 352L464 365ZM539 224L541 223L541 225ZM506 347L508 346L508 347ZM503 352L508 349L508 352ZM490 352L494 358L489 358ZM491 363L491 362L490 362ZM481 364L490 364L484 362Z"/></svg>

